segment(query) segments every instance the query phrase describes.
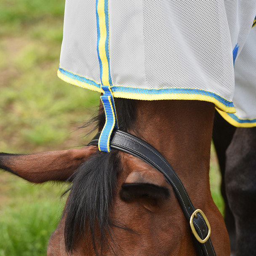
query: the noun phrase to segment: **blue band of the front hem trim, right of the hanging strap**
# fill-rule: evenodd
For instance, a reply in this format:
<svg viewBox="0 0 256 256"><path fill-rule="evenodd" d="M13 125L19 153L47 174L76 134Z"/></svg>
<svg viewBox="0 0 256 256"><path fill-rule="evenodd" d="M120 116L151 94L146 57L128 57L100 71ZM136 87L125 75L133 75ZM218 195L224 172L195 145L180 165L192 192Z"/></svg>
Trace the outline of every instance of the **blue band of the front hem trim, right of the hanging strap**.
<svg viewBox="0 0 256 256"><path fill-rule="evenodd" d="M200 89L189 89L189 88L167 88L167 89L143 89L143 88L130 88L130 87L123 87L123 86L112 86L113 92L124 92L124 93L136 93L136 94L198 94L198 95L205 95L210 96L217 101L221 102L227 107L234 107L232 101L228 101L221 96L209 92L209 91L203 91Z"/></svg>

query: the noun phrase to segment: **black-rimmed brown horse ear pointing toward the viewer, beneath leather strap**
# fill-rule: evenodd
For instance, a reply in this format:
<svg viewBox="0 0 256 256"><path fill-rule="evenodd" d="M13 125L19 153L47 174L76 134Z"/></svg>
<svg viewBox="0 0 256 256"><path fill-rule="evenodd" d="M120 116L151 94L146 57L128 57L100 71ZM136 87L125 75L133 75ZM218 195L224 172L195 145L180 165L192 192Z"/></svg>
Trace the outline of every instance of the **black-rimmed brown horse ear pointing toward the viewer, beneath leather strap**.
<svg viewBox="0 0 256 256"><path fill-rule="evenodd" d="M120 198L125 202L150 200L157 203L169 196L163 174L151 167L131 172L120 190Z"/></svg>

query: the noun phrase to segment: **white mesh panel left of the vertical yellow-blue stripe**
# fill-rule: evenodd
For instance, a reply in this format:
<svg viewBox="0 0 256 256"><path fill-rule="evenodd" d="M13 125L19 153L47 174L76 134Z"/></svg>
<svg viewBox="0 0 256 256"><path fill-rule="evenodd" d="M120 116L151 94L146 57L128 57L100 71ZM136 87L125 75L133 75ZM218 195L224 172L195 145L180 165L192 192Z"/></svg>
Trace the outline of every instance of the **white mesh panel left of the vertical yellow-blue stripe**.
<svg viewBox="0 0 256 256"><path fill-rule="evenodd" d="M60 67L100 83L94 1L66 1Z"/></svg>

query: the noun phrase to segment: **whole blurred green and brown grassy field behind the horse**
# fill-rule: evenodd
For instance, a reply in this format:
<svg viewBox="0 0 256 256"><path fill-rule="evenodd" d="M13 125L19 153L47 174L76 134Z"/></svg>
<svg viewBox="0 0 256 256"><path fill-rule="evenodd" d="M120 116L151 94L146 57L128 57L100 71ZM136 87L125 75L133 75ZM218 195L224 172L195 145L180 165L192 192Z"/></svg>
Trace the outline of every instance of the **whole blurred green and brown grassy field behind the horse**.
<svg viewBox="0 0 256 256"><path fill-rule="evenodd" d="M32 153L86 144L81 122L99 94L60 80L64 0L0 0L0 152ZM211 190L220 211L212 147ZM63 184L34 185L0 171L0 256L45 256L65 203Z"/></svg>

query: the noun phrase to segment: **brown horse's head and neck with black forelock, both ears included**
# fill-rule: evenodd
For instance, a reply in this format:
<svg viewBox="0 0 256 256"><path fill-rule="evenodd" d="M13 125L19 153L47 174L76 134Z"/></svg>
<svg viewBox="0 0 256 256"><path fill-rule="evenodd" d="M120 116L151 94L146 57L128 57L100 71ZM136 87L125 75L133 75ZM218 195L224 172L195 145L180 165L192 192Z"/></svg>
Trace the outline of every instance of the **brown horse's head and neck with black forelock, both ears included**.
<svg viewBox="0 0 256 256"><path fill-rule="evenodd" d="M216 255L229 238L213 203L209 161L214 105L206 101L116 99L119 128L155 147L173 166L211 225ZM98 128L104 125L100 110ZM192 232L172 187L139 158L95 146L32 155L0 155L0 168L28 181L71 181L48 256L196 255Z"/></svg>

